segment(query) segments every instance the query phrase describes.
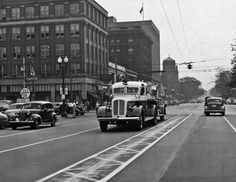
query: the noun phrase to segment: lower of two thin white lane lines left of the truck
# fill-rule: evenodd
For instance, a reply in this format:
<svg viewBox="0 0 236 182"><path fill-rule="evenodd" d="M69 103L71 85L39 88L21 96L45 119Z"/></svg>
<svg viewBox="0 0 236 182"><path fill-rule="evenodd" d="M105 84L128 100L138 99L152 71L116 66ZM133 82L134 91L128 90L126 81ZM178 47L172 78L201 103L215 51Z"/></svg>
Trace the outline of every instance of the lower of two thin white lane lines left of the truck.
<svg viewBox="0 0 236 182"><path fill-rule="evenodd" d="M41 142L31 143L31 144L28 144L28 145L22 145L20 147L15 147L15 148L10 148L10 149L6 149L6 150L1 150L0 154L6 153L6 152L10 152L10 151L14 151L14 150L19 150L19 149L27 148L27 147L31 147L31 146L35 146L35 145L39 145L39 144L42 144L42 143L48 143L48 142L51 142L51 141L60 140L60 139L63 139L63 138L72 137L72 136L75 136L75 135L80 135L80 134L87 133L87 132L90 132L90 131L94 131L94 130L97 130L97 129L98 129L98 127L97 128L93 128L93 129L89 129L89 130L84 130L84 131L77 132L77 133L73 133L73 134L70 134L70 135L64 135L64 136L61 136L61 137L44 140L44 141L41 141Z"/></svg>

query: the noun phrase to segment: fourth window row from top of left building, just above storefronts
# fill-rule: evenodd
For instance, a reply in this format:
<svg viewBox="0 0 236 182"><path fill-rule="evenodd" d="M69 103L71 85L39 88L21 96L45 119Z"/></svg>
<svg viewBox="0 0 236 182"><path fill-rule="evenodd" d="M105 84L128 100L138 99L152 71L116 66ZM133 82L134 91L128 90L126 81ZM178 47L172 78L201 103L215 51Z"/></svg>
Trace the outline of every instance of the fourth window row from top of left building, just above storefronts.
<svg viewBox="0 0 236 182"><path fill-rule="evenodd" d="M32 65L27 64L26 65L26 73L30 72L30 67ZM60 67L59 64L56 64L55 67L55 75L53 75L54 66L51 64L41 64L40 70L38 70L37 75L40 74L41 77L47 77L47 76L55 76L60 74ZM96 66L95 64L87 63L85 72L88 73L91 76L98 76L100 74L104 74L106 71L105 67L102 66ZM81 74L81 64L80 63L72 63L70 73L72 75L79 75ZM7 72L7 69L4 65L0 65L0 78L4 78L6 76L10 76ZM14 78L19 78L23 76L22 72L22 66L13 64L11 66L11 76Z"/></svg>

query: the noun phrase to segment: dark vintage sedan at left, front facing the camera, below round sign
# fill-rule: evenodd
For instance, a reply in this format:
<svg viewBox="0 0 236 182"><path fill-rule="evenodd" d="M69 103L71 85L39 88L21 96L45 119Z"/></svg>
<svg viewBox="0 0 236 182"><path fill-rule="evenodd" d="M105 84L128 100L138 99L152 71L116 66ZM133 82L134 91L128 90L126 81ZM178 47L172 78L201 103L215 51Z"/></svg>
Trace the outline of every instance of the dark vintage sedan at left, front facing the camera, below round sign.
<svg viewBox="0 0 236 182"><path fill-rule="evenodd" d="M30 126L38 129L41 124L55 126L57 115L53 105L48 101L31 101L25 103L16 116L9 118L9 123L13 130L20 126Z"/></svg>

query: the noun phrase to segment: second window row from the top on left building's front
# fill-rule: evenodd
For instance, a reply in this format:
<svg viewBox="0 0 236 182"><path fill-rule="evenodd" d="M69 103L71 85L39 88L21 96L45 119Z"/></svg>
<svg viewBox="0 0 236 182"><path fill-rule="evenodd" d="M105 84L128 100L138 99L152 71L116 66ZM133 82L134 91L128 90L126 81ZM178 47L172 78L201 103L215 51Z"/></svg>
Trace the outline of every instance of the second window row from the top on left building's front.
<svg viewBox="0 0 236 182"><path fill-rule="evenodd" d="M26 39L34 39L35 38L35 27L28 26L26 27ZM40 38L47 39L50 37L49 26L43 25L40 26ZM56 25L55 26L55 37L56 38L64 38L65 28L64 25ZM80 36L80 27L78 23L70 25L70 36L71 37L79 37ZM6 41L7 31L6 28L0 28L0 41ZM21 39L21 28L13 27L12 28L12 40L20 40Z"/></svg>

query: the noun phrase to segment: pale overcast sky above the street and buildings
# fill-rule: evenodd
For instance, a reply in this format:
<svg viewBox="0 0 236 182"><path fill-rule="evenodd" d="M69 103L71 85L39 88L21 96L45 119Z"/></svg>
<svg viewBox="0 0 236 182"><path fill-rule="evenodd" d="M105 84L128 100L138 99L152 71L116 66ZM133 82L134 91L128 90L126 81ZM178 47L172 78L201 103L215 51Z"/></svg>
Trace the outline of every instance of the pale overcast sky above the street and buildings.
<svg viewBox="0 0 236 182"><path fill-rule="evenodd" d="M216 68L230 68L230 44L236 39L236 0L96 1L117 21L142 20L139 10L144 3L144 19L152 20L160 30L161 63L168 56L176 63L198 62L191 71L178 65L180 78L195 77L208 89Z"/></svg>

